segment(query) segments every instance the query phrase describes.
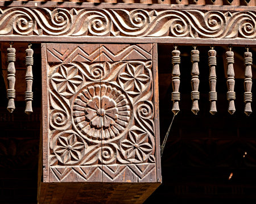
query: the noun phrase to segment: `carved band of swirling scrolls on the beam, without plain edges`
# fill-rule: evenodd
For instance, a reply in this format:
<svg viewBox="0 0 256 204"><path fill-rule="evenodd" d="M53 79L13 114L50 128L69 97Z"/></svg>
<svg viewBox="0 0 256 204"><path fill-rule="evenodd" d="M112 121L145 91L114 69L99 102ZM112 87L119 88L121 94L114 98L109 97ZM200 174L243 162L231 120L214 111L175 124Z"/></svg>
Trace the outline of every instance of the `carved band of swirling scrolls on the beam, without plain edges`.
<svg viewBox="0 0 256 204"><path fill-rule="evenodd" d="M255 39L255 22L254 11L13 7L0 35Z"/></svg>

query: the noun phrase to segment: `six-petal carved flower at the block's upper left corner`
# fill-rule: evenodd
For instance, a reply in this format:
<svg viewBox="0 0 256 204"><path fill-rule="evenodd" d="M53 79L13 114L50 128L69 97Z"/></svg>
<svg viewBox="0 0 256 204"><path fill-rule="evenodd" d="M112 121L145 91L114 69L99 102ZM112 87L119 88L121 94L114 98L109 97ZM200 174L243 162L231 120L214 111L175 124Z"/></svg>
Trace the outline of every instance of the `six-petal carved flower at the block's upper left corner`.
<svg viewBox="0 0 256 204"><path fill-rule="evenodd" d="M52 75L53 87L63 96L75 94L82 81L82 75L75 65L60 65Z"/></svg>

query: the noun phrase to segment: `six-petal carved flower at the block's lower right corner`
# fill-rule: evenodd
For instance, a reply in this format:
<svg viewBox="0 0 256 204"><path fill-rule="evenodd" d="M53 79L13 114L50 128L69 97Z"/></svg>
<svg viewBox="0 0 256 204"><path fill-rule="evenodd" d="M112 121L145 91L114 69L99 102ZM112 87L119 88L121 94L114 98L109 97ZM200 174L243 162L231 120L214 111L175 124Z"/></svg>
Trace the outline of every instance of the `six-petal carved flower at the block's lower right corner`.
<svg viewBox="0 0 256 204"><path fill-rule="evenodd" d="M141 163L148 159L153 150L148 134L142 130L129 131L127 139L122 141L125 157L132 163Z"/></svg>

